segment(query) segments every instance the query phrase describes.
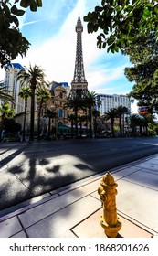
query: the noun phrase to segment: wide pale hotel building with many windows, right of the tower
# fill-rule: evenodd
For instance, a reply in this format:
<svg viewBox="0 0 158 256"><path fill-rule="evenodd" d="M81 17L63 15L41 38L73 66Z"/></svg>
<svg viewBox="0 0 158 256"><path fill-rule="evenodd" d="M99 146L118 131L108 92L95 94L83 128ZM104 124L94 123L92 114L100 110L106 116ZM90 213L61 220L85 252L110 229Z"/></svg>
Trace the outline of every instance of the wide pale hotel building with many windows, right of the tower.
<svg viewBox="0 0 158 256"><path fill-rule="evenodd" d="M123 106L128 108L131 112L131 101L127 95L109 95L109 94L98 94L98 101L100 101L100 114L103 115L105 112L109 112L113 108Z"/></svg>

